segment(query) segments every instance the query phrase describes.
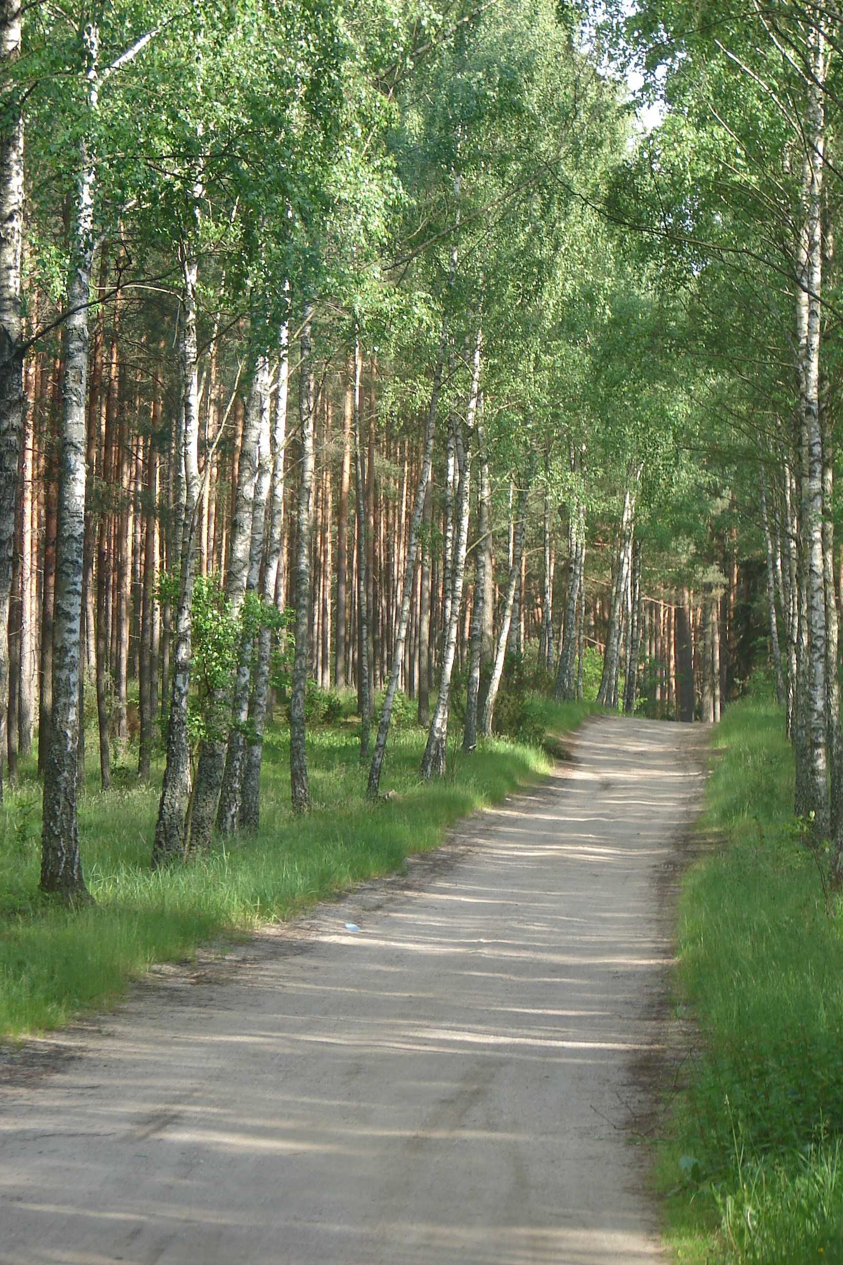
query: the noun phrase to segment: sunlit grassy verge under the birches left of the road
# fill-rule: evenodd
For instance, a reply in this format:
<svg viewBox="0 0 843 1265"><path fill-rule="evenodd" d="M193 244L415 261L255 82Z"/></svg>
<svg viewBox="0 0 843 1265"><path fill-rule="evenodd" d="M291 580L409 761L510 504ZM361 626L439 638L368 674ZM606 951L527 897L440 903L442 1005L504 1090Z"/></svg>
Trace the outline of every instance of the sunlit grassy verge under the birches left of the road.
<svg viewBox="0 0 843 1265"><path fill-rule="evenodd" d="M594 711L545 698L531 708L551 739ZM40 792L24 779L0 811L0 1039L57 1027L112 1002L154 963L181 960L214 936L291 918L394 872L411 853L441 844L460 817L551 765L540 746L493 739L471 756L455 751L446 777L421 784L423 744L417 727L391 735L382 789L397 794L372 806L354 732L315 730L315 810L294 821L287 736L278 729L267 737L260 832L163 873L149 868L158 786L138 786L126 770L124 784L82 797L82 861L96 904L80 912L49 906L38 893Z"/></svg>

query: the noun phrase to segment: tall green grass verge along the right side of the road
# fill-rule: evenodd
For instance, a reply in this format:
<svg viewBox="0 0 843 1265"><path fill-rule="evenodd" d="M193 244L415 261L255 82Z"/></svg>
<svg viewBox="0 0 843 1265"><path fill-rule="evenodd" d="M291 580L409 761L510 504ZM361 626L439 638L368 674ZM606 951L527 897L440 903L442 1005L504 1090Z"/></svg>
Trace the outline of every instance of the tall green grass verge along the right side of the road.
<svg viewBox="0 0 843 1265"><path fill-rule="evenodd" d="M660 1179L682 1265L843 1262L843 915L795 829L782 730L771 702L727 711L700 824L715 846L680 899L703 1051Z"/></svg>

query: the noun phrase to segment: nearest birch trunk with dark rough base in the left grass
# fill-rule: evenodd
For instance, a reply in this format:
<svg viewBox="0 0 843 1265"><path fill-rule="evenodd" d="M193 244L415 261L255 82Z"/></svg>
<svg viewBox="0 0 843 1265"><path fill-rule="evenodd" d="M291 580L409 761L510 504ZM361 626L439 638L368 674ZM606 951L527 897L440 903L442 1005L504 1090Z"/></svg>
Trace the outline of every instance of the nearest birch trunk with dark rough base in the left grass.
<svg viewBox="0 0 843 1265"><path fill-rule="evenodd" d="M99 32L83 35L88 110L99 91ZM64 901L87 899L76 815L80 734L80 630L85 560L85 454L87 440L88 300L94 250L94 161L80 143L71 272L64 321L64 398L58 478L53 698L49 753L44 764L40 885Z"/></svg>

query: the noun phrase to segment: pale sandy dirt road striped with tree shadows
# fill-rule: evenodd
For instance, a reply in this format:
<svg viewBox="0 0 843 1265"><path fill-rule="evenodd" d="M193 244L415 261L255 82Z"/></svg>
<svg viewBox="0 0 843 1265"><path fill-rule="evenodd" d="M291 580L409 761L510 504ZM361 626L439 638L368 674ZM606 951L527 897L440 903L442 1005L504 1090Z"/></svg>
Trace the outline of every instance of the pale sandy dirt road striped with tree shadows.
<svg viewBox="0 0 843 1265"><path fill-rule="evenodd" d="M3 1098L0 1260L661 1261L631 1140L704 740L595 719L409 879L62 1035Z"/></svg>

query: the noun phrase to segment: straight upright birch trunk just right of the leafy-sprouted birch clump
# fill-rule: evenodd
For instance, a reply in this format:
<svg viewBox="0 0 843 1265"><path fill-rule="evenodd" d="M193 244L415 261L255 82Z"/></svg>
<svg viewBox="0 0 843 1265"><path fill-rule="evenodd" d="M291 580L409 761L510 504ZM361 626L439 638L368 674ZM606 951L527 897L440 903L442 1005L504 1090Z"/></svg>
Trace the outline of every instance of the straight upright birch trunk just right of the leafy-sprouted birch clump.
<svg viewBox="0 0 843 1265"><path fill-rule="evenodd" d="M312 319L313 305L310 300L306 300L301 333L301 368L298 383L301 473L298 478L298 539L296 543L296 651L293 657L293 674L289 697L289 782L293 812L296 813L306 812L310 808L305 697L307 693L307 634L310 629L311 606L311 535L313 530Z"/></svg>

